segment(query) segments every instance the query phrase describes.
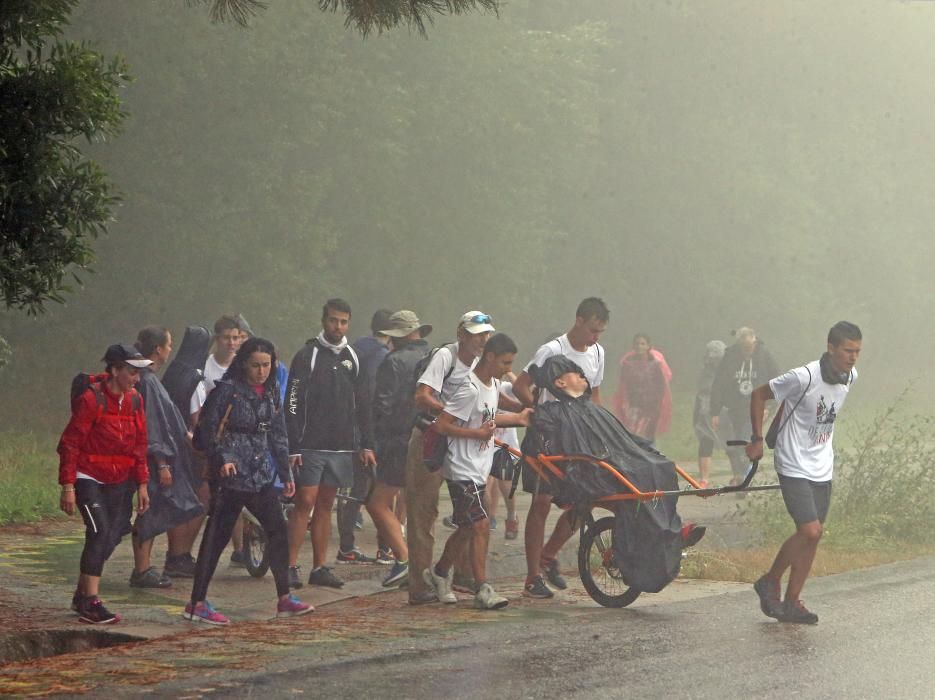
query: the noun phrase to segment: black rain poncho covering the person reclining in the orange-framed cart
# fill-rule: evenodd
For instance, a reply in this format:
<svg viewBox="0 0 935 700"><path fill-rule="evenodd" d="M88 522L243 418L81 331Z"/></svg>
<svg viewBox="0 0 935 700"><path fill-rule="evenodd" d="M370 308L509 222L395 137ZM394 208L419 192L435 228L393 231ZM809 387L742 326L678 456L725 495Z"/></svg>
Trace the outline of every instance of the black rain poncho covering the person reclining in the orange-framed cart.
<svg viewBox="0 0 935 700"><path fill-rule="evenodd" d="M640 491L678 489L675 464L651 443L627 431L610 411L594 404L590 388L584 396L572 398L554 387L555 379L567 372L583 375L578 365L562 356L530 368L536 385L548 388L556 400L536 408L523 452L590 455L611 464ZM598 498L626 492L613 474L589 462L565 463L563 468L565 479L551 480L559 505L588 508ZM670 496L612 505L614 554L626 583L640 591L661 591L678 576L682 521L676 512L677 500Z"/></svg>

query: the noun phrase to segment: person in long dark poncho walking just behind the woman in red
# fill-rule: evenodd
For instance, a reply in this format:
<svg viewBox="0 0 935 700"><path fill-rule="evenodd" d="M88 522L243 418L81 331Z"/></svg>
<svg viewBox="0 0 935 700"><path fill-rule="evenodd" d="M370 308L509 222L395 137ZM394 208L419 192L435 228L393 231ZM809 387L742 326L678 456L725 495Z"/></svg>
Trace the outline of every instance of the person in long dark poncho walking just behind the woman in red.
<svg viewBox="0 0 935 700"><path fill-rule="evenodd" d="M193 486L194 454L185 419L168 391L156 376L172 354L172 334L162 326L146 326L136 340L136 349L152 360L140 370L139 392L146 412L149 467L149 510L133 526L134 568L130 574L133 588L168 588L172 579L152 566L150 555L157 535L200 518L204 507ZM172 551L169 538L169 558Z"/></svg>

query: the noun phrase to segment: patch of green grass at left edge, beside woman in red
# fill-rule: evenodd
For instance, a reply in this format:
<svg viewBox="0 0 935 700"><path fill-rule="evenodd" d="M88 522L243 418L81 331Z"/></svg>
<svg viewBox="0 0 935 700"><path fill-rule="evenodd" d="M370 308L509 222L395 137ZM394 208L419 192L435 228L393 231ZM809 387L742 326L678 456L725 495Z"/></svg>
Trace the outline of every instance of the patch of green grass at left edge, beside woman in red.
<svg viewBox="0 0 935 700"><path fill-rule="evenodd" d="M0 432L0 525L61 513L54 445L51 437Z"/></svg>

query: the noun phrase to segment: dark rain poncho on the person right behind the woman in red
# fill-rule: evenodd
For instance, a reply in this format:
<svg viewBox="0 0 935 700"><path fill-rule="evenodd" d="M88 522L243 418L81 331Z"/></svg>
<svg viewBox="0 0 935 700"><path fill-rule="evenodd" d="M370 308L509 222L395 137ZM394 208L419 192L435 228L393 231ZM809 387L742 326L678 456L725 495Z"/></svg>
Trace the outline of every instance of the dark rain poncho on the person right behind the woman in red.
<svg viewBox="0 0 935 700"><path fill-rule="evenodd" d="M138 388L146 413L149 510L136 519L136 530L145 542L202 515L204 508L192 486L194 455L181 414L152 370L140 372ZM167 489L159 485L159 464L172 468Z"/></svg>

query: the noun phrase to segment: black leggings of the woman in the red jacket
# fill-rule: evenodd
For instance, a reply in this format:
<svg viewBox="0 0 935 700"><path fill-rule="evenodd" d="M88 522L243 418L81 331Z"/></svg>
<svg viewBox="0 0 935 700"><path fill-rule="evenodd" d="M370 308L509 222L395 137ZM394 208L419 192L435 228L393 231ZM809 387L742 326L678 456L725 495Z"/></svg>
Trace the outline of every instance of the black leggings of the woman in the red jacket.
<svg viewBox="0 0 935 700"><path fill-rule="evenodd" d="M130 532L133 484L99 484L91 479L75 481L75 504L84 520L81 573L100 576L123 536Z"/></svg>

